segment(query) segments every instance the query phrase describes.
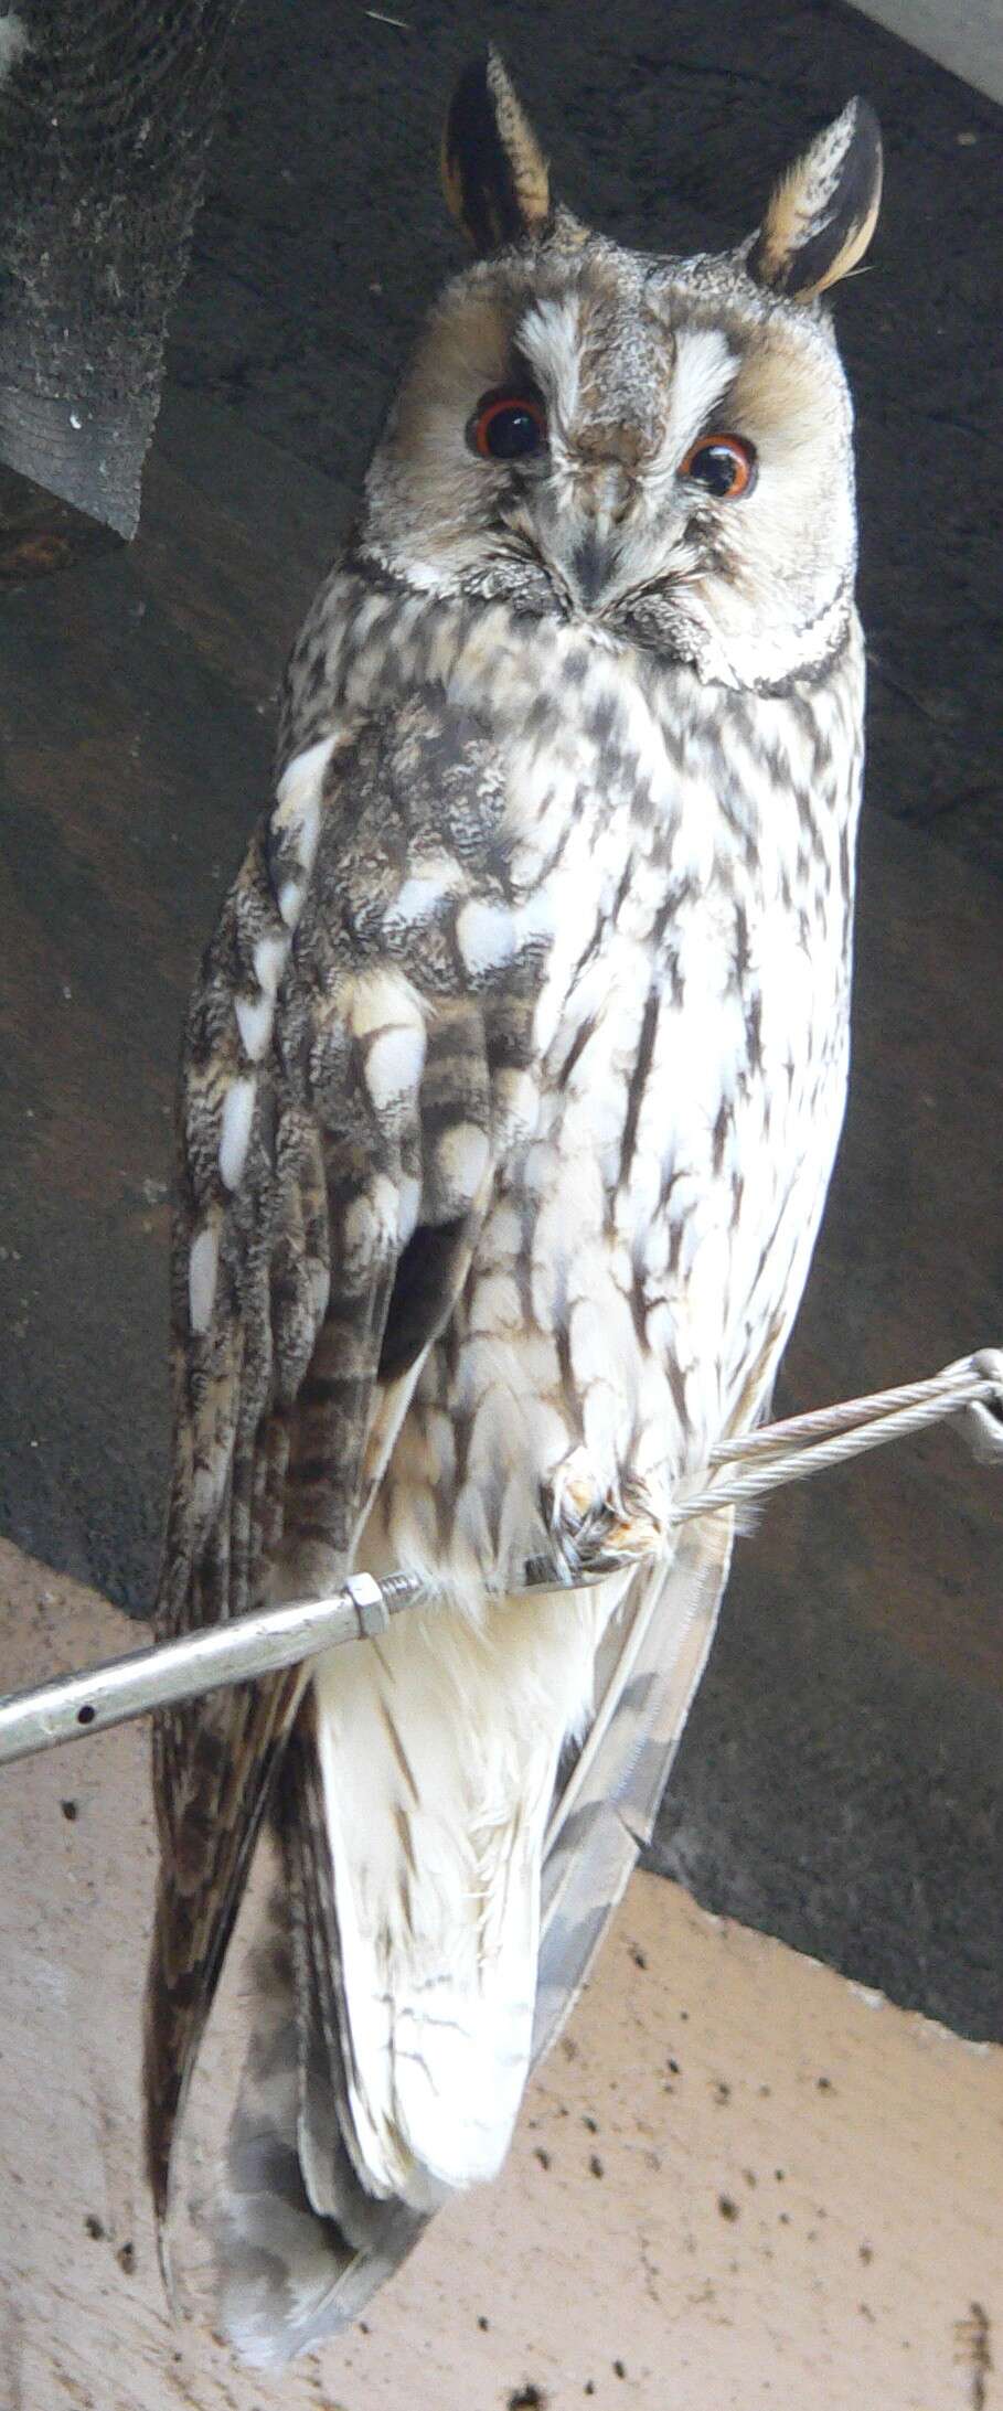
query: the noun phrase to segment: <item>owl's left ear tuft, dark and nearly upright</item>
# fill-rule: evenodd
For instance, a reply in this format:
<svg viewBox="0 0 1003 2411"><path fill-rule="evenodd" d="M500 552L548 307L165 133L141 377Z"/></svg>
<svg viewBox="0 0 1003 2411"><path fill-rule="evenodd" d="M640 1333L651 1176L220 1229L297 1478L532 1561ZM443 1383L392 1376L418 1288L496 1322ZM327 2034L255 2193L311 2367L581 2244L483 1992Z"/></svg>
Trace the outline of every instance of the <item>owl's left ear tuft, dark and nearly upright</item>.
<svg viewBox="0 0 1003 2411"><path fill-rule="evenodd" d="M547 162L494 48L465 68L453 92L441 181L480 253L533 239L550 219Z"/></svg>

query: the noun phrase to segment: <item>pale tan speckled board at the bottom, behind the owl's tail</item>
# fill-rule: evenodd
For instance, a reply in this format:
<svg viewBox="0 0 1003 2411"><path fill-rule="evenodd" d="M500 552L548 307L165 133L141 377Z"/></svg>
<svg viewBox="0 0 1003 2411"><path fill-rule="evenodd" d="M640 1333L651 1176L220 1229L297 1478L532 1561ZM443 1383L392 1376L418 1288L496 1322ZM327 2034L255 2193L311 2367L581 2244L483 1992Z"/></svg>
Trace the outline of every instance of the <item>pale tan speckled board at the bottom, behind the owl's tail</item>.
<svg viewBox="0 0 1003 2411"><path fill-rule="evenodd" d="M0 1543L2 1678L128 1647ZM1003 2052L634 1881L504 2180L285 2377L166 2319L137 2153L142 1729L0 1777L5 2411L981 2411Z"/></svg>

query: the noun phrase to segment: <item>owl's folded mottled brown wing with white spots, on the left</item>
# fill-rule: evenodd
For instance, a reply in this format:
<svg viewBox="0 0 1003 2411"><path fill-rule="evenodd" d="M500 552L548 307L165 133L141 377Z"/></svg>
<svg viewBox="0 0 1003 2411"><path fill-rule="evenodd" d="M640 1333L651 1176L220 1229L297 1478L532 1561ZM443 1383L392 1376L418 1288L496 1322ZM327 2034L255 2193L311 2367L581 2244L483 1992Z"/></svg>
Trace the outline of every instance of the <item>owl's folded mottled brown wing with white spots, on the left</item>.
<svg viewBox="0 0 1003 2411"><path fill-rule="evenodd" d="M439 788L434 781L439 764ZM470 1263L528 1063L533 976L465 976L470 875L451 815L487 815L477 738L417 699L285 774L224 904L188 1013L171 1259L174 1466L157 1627L174 1635L345 1577L424 1350ZM475 827L477 834L477 827ZM398 897L434 841L441 911ZM523 986L523 993L518 993ZM502 1029L502 1037L499 1037ZM147 2001L147 2146L171 2134L299 1671L162 1714L162 1881Z"/></svg>

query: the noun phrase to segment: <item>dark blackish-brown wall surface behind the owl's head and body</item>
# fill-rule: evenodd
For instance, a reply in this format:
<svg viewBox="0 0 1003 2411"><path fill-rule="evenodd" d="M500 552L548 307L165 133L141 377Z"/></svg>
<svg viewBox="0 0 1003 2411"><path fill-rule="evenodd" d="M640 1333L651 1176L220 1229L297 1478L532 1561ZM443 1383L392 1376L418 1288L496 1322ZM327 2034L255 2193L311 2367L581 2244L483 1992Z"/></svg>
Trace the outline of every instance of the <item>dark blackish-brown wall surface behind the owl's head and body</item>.
<svg viewBox="0 0 1003 2411"><path fill-rule="evenodd" d="M747 231L851 92L882 118L873 265L837 297L870 639L856 1061L776 1410L1003 1343L1001 113L827 0L393 17L248 0L140 538L0 600L0 1517L135 1613L183 998L268 793L285 649L458 265L439 121L485 34L557 190L646 248ZM786 1492L740 1550L656 1849L709 1907L998 2037L1001 1509L950 1432Z"/></svg>

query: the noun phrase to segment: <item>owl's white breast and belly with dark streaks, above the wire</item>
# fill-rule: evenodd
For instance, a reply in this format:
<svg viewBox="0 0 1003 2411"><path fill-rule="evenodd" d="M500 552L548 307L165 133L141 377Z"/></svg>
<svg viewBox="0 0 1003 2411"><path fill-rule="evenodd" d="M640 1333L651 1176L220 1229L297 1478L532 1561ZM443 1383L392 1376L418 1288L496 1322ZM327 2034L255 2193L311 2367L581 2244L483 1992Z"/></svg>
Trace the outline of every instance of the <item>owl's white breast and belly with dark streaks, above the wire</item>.
<svg viewBox="0 0 1003 2411"><path fill-rule="evenodd" d="M422 1531L439 1570L499 1579L545 1545L571 1449L598 1483L673 1485L752 1418L846 1090L851 752L822 774L817 714L781 704L721 723L690 697L675 723L596 680L593 706L559 743L540 714L506 752L511 914L542 948L538 1107L383 1500L388 1558Z"/></svg>

